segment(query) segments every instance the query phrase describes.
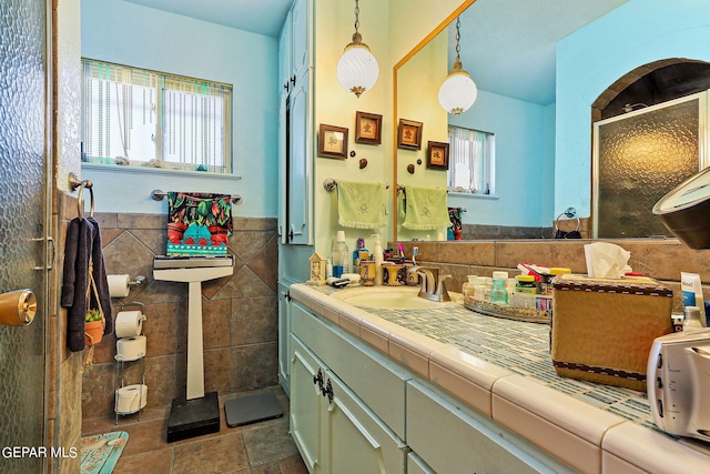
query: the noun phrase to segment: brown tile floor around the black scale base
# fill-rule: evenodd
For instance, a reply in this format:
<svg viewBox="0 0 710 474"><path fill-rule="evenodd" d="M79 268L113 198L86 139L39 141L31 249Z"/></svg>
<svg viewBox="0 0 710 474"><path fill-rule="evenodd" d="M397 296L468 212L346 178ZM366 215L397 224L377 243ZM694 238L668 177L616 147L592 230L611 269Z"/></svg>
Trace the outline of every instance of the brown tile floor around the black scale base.
<svg viewBox="0 0 710 474"><path fill-rule="evenodd" d="M229 427L224 401L256 392L220 397L221 428L219 433L165 441L170 409L151 409L141 414L84 420L82 436L125 431L129 442L121 454L114 474L307 474L298 450L288 434L288 399L281 387L276 393L284 416L245 426Z"/></svg>

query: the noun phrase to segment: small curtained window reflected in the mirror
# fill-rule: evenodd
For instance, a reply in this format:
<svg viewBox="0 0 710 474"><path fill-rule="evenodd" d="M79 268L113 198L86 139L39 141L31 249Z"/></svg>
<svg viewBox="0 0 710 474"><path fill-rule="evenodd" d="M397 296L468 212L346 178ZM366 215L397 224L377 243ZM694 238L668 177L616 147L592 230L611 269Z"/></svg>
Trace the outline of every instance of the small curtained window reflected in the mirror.
<svg viewBox="0 0 710 474"><path fill-rule="evenodd" d="M448 128L449 191L495 193L495 135L460 127Z"/></svg>

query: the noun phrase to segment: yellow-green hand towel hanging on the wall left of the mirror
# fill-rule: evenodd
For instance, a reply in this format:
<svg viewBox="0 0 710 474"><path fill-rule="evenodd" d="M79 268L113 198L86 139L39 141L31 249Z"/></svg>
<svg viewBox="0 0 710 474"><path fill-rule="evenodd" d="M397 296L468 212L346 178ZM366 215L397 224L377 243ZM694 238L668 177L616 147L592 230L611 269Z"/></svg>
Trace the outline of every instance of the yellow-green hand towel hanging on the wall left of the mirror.
<svg viewBox="0 0 710 474"><path fill-rule="evenodd" d="M338 224L355 229L386 226L385 189L384 183L337 180Z"/></svg>

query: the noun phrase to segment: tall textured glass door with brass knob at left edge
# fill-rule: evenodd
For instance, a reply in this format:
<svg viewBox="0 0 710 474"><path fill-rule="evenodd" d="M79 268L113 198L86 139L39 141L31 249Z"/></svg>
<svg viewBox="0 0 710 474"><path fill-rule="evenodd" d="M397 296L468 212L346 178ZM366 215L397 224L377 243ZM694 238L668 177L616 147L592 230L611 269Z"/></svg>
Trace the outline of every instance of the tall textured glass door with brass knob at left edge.
<svg viewBox="0 0 710 474"><path fill-rule="evenodd" d="M30 289L38 302L31 324L0 325L0 472L4 474L41 473L51 455L44 402L45 9L41 0L0 2L0 294Z"/></svg>

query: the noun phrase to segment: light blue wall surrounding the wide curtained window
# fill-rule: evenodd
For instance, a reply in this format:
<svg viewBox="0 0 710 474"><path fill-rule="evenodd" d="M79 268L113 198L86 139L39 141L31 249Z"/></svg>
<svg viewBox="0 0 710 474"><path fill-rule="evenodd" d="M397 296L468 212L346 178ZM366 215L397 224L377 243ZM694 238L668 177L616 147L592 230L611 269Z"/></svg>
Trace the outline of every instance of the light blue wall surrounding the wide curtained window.
<svg viewBox="0 0 710 474"><path fill-rule="evenodd" d="M97 211L159 213L163 203L152 201L150 193L160 183L166 191L239 193L244 196L241 215L276 216L277 193L270 191L278 185L276 38L129 1L91 0L81 2L81 54L234 85L232 154L241 180L209 173L116 174L83 167L82 178L98 184Z"/></svg>

